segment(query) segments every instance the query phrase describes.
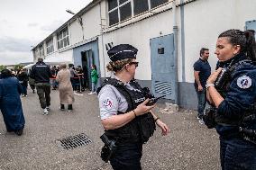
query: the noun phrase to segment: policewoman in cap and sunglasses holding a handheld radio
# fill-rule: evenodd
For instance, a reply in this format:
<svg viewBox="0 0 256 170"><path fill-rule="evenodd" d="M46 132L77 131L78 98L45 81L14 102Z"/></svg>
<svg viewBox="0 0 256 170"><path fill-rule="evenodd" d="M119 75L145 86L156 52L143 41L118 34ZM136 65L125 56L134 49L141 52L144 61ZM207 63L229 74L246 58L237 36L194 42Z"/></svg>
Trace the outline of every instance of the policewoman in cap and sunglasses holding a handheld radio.
<svg viewBox="0 0 256 170"><path fill-rule="evenodd" d="M168 126L151 112L155 105L146 105L147 92L133 79L138 67L137 50L129 44L108 50L111 61L107 69L114 76L97 90L105 135L117 146L110 157L114 169L142 169L142 143L152 136L155 123L163 135L169 132Z"/></svg>

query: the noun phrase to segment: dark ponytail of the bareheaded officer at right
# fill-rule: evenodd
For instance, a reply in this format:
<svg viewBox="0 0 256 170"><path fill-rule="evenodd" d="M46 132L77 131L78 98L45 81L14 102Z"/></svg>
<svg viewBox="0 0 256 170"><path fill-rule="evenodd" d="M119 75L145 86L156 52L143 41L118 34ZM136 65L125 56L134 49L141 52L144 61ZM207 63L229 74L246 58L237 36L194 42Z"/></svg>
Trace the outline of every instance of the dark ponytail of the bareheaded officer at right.
<svg viewBox="0 0 256 170"><path fill-rule="evenodd" d="M246 37L246 54L252 61L256 61L256 42L253 30L244 31Z"/></svg>

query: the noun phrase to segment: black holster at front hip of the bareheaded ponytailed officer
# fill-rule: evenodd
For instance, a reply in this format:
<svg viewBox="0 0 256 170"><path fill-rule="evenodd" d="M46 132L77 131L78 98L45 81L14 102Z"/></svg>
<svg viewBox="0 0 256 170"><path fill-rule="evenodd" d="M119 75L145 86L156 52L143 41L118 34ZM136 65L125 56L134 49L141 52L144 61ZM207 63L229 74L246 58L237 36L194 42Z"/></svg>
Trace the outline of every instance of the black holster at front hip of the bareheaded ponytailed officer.
<svg viewBox="0 0 256 170"><path fill-rule="evenodd" d="M204 112L204 115L203 115L203 120L205 121L205 124L208 129L213 129L216 127L215 107L206 109L206 112Z"/></svg>

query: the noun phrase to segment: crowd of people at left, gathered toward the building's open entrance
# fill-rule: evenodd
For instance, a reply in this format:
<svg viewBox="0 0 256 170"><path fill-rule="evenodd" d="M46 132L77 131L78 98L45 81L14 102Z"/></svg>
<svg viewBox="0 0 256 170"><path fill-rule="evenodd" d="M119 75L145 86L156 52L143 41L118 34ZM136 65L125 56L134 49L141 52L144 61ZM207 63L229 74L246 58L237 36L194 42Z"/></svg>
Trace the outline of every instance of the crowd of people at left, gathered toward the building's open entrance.
<svg viewBox="0 0 256 170"><path fill-rule="evenodd" d="M43 62L43 58L38 58L38 62L30 70L22 68L18 71L9 69L1 71L0 109L8 132L14 131L19 136L23 134L25 121L20 96L27 97L28 85L33 94L35 92L38 94L43 115L48 115L50 112L51 89L59 89L61 111L65 110L65 104L68 105L68 112L73 110L74 93L85 91L88 87L87 67L84 67L84 70L80 66L74 67L73 64L69 64L69 69L67 67L66 64L50 67ZM92 92L95 94L98 75L96 66L91 67Z"/></svg>

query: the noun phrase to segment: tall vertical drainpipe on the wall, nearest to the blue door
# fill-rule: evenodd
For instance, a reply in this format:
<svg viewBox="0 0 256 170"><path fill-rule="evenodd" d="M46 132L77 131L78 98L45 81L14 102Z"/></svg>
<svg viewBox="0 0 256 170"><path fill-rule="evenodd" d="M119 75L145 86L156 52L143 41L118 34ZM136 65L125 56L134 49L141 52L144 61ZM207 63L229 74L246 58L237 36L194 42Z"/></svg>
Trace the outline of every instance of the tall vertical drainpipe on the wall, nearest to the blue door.
<svg viewBox="0 0 256 170"><path fill-rule="evenodd" d="M176 1L172 1L173 11L173 39L174 39L174 68L175 68L175 103L178 104L178 26L176 20Z"/></svg>

